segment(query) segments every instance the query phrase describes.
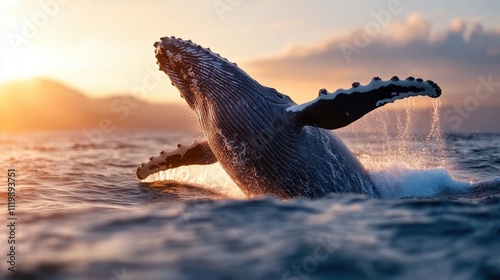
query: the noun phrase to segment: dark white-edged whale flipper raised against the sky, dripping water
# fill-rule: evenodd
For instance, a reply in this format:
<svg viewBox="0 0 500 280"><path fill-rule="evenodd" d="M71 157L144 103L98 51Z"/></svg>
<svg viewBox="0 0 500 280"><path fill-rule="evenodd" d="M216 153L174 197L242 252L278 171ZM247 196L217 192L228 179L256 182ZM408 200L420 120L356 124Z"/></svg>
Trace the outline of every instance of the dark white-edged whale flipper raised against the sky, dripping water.
<svg viewBox="0 0 500 280"><path fill-rule="evenodd" d="M319 92L313 101L291 106L286 110L295 115L298 123L326 129L344 127L368 112L410 96L426 95L432 98L441 95L441 89L433 81L408 77L399 80L394 76L388 81L374 77L367 85L358 82L350 89L338 89L328 93Z"/></svg>

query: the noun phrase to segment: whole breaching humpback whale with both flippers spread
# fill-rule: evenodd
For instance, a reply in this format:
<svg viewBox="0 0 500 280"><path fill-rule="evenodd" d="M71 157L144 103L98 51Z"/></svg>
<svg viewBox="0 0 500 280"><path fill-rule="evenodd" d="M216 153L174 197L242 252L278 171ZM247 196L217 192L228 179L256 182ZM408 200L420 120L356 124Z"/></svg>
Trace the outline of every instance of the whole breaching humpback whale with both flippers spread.
<svg viewBox="0 0 500 280"><path fill-rule="evenodd" d="M248 197L314 199L335 192L377 198L364 167L330 130L402 98L441 95L431 80L374 77L349 89L321 89L316 99L298 105L191 40L162 37L154 47L159 70L195 111L206 140L150 157L137 168L139 180L219 162Z"/></svg>

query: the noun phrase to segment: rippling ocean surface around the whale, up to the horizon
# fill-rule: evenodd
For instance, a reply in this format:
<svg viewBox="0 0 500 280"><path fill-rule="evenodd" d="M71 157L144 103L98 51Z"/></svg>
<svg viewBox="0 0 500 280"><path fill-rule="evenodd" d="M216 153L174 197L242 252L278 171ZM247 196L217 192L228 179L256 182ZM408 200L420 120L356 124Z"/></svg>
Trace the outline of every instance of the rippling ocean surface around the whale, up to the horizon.
<svg viewBox="0 0 500 280"><path fill-rule="evenodd" d="M218 164L135 178L197 133L0 134L0 278L500 279L500 134L339 136L382 199L247 199Z"/></svg>

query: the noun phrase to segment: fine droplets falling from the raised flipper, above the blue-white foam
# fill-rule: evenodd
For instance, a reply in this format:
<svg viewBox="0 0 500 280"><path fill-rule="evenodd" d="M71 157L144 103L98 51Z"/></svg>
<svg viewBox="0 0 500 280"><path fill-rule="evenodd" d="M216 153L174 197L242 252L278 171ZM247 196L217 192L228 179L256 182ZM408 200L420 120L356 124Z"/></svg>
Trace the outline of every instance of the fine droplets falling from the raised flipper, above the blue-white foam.
<svg viewBox="0 0 500 280"><path fill-rule="evenodd" d="M441 103L434 99L432 102L432 111L424 114L417 112L415 101L402 100L392 107L397 110L379 110L353 126L344 140L369 170L393 166L448 169L440 127Z"/></svg>

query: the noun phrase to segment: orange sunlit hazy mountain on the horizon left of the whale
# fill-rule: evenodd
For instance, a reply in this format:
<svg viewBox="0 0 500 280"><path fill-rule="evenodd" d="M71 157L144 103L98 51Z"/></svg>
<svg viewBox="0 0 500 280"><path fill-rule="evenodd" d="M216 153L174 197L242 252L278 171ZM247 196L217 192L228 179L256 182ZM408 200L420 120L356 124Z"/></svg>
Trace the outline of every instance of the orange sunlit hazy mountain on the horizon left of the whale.
<svg viewBox="0 0 500 280"><path fill-rule="evenodd" d="M57 81L37 78L0 85L0 132L116 129L196 130L187 106L151 104L131 95L91 99Z"/></svg>

